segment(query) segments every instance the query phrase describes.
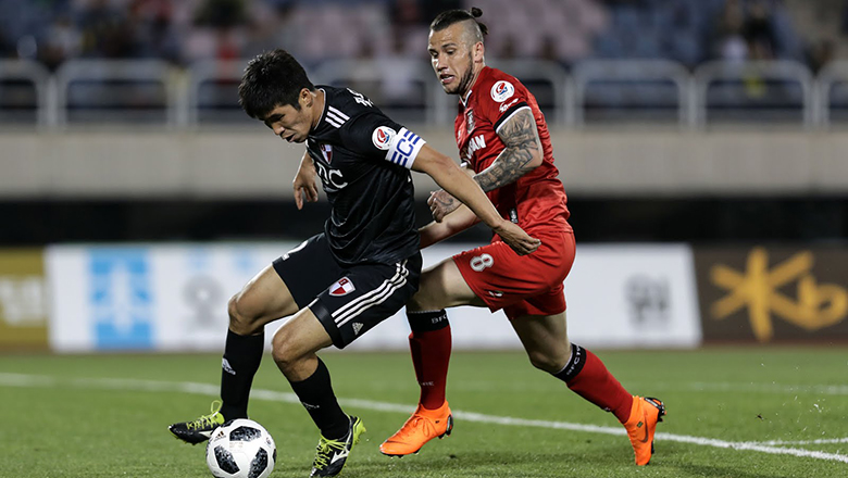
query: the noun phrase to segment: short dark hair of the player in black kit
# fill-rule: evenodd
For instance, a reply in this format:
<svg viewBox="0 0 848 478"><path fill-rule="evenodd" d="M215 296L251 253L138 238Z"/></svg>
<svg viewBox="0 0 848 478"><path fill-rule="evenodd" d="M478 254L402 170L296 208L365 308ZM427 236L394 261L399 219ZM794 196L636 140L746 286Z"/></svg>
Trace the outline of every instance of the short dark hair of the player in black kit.
<svg viewBox="0 0 848 478"><path fill-rule="evenodd" d="M250 117L262 120L277 106L290 104L300 110L298 97L303 88L315 90L303 66L278 48L250 60L238 86L238 103Z"/></svg>

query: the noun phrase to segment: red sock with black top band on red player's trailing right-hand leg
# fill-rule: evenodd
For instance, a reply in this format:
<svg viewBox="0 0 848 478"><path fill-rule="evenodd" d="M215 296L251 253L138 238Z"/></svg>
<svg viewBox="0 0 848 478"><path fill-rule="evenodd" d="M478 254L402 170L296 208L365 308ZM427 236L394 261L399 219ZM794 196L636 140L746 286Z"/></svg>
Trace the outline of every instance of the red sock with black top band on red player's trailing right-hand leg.
<svg viewBox="0 0 848 478"><path fill-rule="evenodd" d="M612 412L621 423L631 417L633 395L610 374L600 358L572 343L571 360L565 368L553 374L574 393L601 408Z"/></svg>

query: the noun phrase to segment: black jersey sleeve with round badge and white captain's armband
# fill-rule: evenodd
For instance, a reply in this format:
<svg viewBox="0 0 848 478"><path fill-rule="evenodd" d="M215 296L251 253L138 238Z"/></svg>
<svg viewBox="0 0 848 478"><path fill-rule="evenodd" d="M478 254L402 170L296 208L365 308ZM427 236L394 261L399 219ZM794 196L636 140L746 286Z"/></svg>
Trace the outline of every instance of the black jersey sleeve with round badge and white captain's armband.
<svg viewBox="0 0 848 478"><path fill-rule="evenodd" d="M356 117L341 130L345 147L369 159L412 168L421 148L420 136L379 113Z"/></svg>

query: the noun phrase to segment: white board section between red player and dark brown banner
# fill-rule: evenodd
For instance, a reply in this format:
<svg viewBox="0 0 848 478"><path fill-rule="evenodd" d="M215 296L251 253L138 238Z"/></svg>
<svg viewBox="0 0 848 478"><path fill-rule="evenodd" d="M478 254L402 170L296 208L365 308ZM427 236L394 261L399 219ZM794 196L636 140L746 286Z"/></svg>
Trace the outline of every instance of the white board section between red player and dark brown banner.
<svg viewBox="0 0 848 478"><path fill-rule="evenodd" d="M698 347L689 246L579 246L565 279L569 336L599 347Z"/></svg>

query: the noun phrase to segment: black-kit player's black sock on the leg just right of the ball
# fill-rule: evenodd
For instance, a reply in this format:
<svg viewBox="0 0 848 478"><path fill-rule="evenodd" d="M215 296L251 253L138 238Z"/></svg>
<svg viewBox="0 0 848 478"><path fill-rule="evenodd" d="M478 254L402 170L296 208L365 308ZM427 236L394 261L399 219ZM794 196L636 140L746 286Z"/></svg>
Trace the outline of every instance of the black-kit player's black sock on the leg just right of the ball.
<svg viewBox="0 0 848 478"><path fill-rule="evenodd" d="M320 357L314 374L305 380L289 383L324 438L336 440L347 435L350 418L338 406L329 381L329 370Z"/></svg>

